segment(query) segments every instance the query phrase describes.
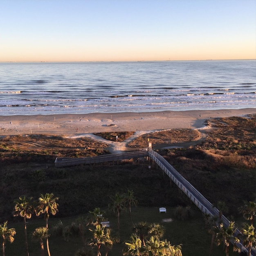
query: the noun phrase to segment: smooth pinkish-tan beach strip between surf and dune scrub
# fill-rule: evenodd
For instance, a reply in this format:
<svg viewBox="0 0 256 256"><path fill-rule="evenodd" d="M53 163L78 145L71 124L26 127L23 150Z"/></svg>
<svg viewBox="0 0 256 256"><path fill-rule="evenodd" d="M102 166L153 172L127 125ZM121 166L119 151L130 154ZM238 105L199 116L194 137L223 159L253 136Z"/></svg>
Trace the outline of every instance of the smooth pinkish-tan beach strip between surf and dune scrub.
<svg viewBox="0 0 256 256"><path fill-rule="evenodd" d="M0 116L0 135L51 134L74 136L93 132L202 128L213 117L245 116L256 108L58 115Z"/></svg>

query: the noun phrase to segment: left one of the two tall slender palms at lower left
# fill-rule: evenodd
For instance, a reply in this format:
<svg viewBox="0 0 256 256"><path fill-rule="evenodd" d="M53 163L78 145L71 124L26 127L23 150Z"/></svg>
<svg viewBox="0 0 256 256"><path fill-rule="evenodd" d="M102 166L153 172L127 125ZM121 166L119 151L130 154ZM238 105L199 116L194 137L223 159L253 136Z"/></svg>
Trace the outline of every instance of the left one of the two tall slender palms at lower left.
<svg viewBox="0 0 256 256"><path fill-rule="evenodd" d="M24 231L25 231L25 245L27 250L27 256L29 256L29 247L27 243L27 224L26 219L30 219L32 216L33 205L32 205L33 198L27 198L25 195L20 196L18 199L14 201L14 211L13 216L21 216L23 217L24 221Z"/></svg>

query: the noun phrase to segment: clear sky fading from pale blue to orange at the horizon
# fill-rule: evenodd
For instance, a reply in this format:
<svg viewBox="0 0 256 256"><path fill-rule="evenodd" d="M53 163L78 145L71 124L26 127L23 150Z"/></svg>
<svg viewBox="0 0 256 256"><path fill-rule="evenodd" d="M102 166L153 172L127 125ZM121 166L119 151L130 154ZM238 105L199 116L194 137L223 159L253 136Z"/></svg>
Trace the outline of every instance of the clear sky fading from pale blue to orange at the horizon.
<svg viewBox="0 0 256 256"><path fill-rule="evenodd" d="M0 62L256 58L256 0L0 0Z"/></svg>

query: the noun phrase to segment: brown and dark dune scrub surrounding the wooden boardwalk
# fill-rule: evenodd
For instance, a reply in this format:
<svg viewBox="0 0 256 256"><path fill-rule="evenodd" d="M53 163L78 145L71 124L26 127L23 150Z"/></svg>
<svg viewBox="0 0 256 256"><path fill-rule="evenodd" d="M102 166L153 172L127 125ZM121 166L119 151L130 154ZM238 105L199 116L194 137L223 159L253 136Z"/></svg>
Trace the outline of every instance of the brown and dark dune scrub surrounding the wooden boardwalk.
<svg viewBox="0 0 256 256"><path fill-rule="evenodd" d="M185 148L162 150L158 147L157 151L216 207L219 201L225 202L226 208L223 212L225 216L230 220L235 218L243 222L238 207L243 205L244 201L254 201L256 197L255 124L255 115L209 119L206 125L211 129L207 131L207 138L204 141ZM124 132L124 137L120 133L111 134L109 137L118 136L120 139L125 139L132 134ZM107 138L108 135L101 134L101 137ZM153 147L154 145L157 147L160 144L184 143L184 138L186 141L193 142L200 137L200 133L190 129L155 132L132 141L129 146L135 149L143 148L148 143L148 137L153 143ZM59 218L73 221L77 215L88 213L95 207L106 209L110 203L110 198L114 197L116 193L125 193L129 189L134 192L139 207L144 207L142 212L145 209L150 211L150 209L159 206L169 207L169 209L173 209L171 210L172 218L178 212L183 214L180 217L177 215L175 218L179 221L180 228L186 229L188 223L183 227L181 222L186 222L188 216L192 216L193 219L197 214L191 215L193 207L190 208L191 203L188 198L180 194L175 186L171 186L168 177L164 176L151 163L150 169L148 168L149 163L146 161L65 168L54 166L56 157L86 157L108 154L108 151L105 150L106 147L106 144L87 138L69 139L52 135L2 137L0 161L4 167L0 169L0 223L8 220L8 227L12 227L10 224L16 221L12 214L13 202L20 195L36 198L39 194L44 195L49 191L54 193L59 198L58 214L53 220L56 223ZM179 208L176 209L177 206ZM112 215L115 216L113 213ZM110 214L109 216L111 217ZM141 212L139 216L141 217ZM154 218L155 216L154 214ZM144 221L141 218L137 218L137 220ZM135 218L134 221L137 220ZM191 218L189 220L191 221ZM40 220L38 221L40 222ZM146 214L145 221L147 221ZM43 222L39 222L37 222L36 227L43 225ZM204 228L202 223L200 227L201 229ZM18 230L16 231L17 237ZM125 238L121 238L122 241L130 240L132 232L129 231L128 233ZM177 231L175 236L178 236L178 233ZM68 234L67 232L66 239L70 243L74 238L69 239ZM194 255L189 254L189 249L187 249L191 246L191 244L189 245L191 239L189 235L186 237L183 235L183 240L179 240L178 237L172 240L170 235L166 235L172 244L183 244L182 253L186 252L183 255ZM174 236L174 234L172 235ZM204 235L198 233L196 236L203 239ZM56 238L55 241L62 244L59 238ZM193 248L200 244L194 239L191 241L193 241L191 242ZM124 247L121 249L117 245L117 248L119 248L119 253L109 253L109 255L121 255L120 252ZM114 252L116 251L113 249L112 253ZM208 254L208 252L207 250L206 253ZM222 254L216 253L214 255Z"/></svg>

